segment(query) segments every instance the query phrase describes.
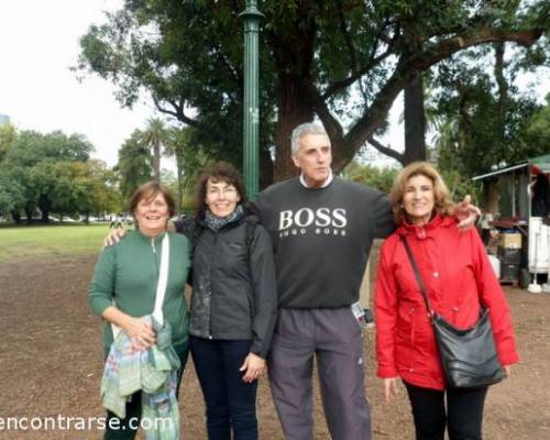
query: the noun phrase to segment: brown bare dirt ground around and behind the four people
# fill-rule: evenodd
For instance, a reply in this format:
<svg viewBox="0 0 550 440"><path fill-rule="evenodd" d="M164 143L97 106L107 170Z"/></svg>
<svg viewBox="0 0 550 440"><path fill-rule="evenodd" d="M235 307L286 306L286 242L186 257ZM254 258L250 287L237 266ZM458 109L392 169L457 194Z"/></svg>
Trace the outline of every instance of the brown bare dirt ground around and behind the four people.
<svg viewBox="0 0 550 440"><path fill-rule="evenodd" d="M95 256L25 260L0 264L0 439L98 439L77 418L102 417L100 322L87 307L87 285ZM374 265L373 265L374 266ZM374 271L374 267L372 267ZM521 363L513 377L488 395L484 433L488 440L550 439L550 295L506 286ZM386 405L374 375L374 329L365 336L365 389L373 408L374 439L413 439L404 389ZM182 384L185 439L206 439L204 404L189 362ZM262 439L282 439L267 381L258 392ZM316 439L330 439L316 388ZM9 417L74 417L72 430L7 430ZM36 421L35 421L36 422ZM4 424L2 426L2 424ZM350 439L354 440L354 439Z"/></svg>

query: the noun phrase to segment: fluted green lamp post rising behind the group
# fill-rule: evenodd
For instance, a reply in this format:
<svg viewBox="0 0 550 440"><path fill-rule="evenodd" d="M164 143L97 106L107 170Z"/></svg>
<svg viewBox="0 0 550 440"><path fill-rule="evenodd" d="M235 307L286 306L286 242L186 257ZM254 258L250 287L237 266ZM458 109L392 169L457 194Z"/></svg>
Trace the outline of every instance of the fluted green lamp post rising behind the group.
<svg viewBox="0 0 550 440"><path fill-rule="evenodd" d="M258 185L258 125L260 125L260 74L258 40L260 23L263 14L256 8L256 0L246 0L246 8L241 13L244 22L244 131L243 131L243 170L244 185L251 199L260 190Z"/></svg>

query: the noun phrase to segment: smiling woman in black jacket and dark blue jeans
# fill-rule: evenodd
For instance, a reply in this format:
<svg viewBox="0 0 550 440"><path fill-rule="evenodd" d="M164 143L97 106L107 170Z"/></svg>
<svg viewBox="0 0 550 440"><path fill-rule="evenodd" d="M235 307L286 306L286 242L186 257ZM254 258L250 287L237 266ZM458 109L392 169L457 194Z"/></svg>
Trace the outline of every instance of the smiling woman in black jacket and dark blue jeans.
<svg viewBox="0 0 550 440"><path fill-rule="evenodd" d="M210 440L257 439L257 378L277 314L270 234L246 207L239 172L217 163L197 186L193 219L176 230L195 244L190 351Z"/></svg>

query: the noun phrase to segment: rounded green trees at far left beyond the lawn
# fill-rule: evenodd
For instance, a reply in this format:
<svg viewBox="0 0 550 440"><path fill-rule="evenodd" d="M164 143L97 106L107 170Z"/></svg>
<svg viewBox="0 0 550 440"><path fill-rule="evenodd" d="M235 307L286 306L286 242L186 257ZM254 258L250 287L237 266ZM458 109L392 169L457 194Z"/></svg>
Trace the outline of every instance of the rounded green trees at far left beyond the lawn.
<svg viewBox="0 0 550 440"><path fill-rule="evenodd" d="M90 161L92 145L80 134L15 133L0 162L0 212L18 218L36 208L47 222L51 212L77 215L120 206L114 175Z"/></svg>

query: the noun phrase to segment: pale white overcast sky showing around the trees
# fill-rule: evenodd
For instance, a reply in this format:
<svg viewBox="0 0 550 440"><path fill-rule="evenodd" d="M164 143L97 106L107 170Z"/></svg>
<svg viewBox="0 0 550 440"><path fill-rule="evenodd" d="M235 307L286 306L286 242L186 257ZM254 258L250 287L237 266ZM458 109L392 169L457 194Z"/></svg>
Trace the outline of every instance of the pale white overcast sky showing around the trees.
<svg viewBox="0 0 550 440"><path fill-rule="evenodd" d="M122 0L0 0L0 114L9 116L19 130L85 134L96 147L92 157L116 165L123 141L160 114L145 101L121 109L114 86L95 75L79 82L69 67L77 64L79 37L90 24L105 21L102 11L121 4ZM520 86L536 79L525 76ZM542 101L550 81L547 77L539 82ZM399 97L389 114L389 133L381 139L398 151L404 147L403 125L397 122L402 112ZM371 157L377 165L396 163L383 155Z"/></svg>

